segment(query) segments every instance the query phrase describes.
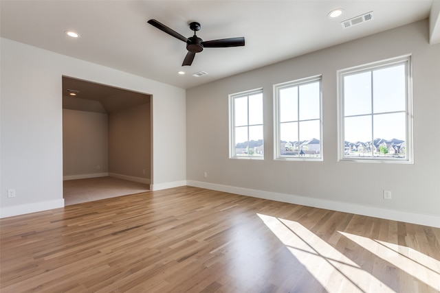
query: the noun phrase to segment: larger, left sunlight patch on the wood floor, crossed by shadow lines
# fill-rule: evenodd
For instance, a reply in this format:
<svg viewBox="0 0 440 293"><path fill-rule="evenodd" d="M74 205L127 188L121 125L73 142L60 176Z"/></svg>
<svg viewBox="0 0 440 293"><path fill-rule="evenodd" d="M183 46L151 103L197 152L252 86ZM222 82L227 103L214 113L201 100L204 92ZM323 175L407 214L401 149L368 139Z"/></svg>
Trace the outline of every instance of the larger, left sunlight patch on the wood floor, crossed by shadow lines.
<svg viewBox="0 0 440 293"><path fill-rule="evenodd" d="M327 292L395 292L298 222L257 215Z"/></svg>

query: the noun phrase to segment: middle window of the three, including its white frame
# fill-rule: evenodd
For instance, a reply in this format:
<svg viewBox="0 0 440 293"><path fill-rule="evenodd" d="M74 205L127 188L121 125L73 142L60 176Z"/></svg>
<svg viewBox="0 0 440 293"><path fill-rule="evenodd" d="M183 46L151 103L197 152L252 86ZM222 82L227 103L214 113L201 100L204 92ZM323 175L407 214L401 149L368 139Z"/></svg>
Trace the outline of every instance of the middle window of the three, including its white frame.
<svg viewBox="0 0 440 293"><path fill-rule="evenodd" d="M275 158L322 160L321 76L274 85Z"/></svg>

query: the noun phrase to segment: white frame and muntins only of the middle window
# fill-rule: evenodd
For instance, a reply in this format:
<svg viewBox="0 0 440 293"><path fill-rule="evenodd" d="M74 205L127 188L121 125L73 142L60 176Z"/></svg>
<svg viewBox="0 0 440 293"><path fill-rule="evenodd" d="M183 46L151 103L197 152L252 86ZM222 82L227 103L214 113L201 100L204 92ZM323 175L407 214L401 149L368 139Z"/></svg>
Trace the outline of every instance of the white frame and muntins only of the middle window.
<svg viewBox="0 0 440 293"><path fill-rule="evenodd" d="M304 84L311 84L314 82L319 82L319 125L320 125L320 135L318 139L320 140L320 156L319 157L304 157L304 156L283 156L281 155L281 109L280 109L280 95L279 91L281 89L288 89L295 86L301 86ZM277 161L324 161L324 154L322 152L323 148L323 119L322 119L322 74L310 76L308 78L301 78L298 80L292 80L289 82L283 82L280 84L274 84L274 160ZM299 95L298 95L299 101ZM298 108L299 113L299 108ZM318 119L305 119L307 120L318 120ZM298 116L298 121L300 122L300 117ZM299 132L298 132L299 136Z"/></svg>

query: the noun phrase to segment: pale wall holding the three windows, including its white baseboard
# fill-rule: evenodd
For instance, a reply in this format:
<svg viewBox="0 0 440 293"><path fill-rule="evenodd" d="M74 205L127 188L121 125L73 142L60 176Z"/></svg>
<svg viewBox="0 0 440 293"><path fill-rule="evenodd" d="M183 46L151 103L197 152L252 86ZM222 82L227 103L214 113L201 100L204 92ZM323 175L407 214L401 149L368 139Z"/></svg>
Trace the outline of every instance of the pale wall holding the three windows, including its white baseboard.
<svg viewBox="0 0 440 293"><path fill-rule="evenodd" d="M188 185L440 226L440 45L428 44L428 30L420 21L188 90ZM336 71L404 54L412 54L415 163L338 162ZM318 74L324 161L274 161L273 84ZM265 159L228 159L228 95L261 87Z"/></svg>

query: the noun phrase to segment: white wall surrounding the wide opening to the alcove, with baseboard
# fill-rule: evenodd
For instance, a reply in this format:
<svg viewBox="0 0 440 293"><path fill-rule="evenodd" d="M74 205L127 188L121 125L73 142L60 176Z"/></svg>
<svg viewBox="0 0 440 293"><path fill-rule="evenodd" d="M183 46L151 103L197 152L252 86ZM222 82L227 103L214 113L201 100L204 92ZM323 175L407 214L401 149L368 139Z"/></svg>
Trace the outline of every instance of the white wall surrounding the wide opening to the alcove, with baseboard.
<svg viewBox="0 0 440 293"><path fill-rule="evenodd" d="M185 184L184 89L5 38L0 46L1 217L64 205L62 75L153 95L153 189Z"/></svg>

